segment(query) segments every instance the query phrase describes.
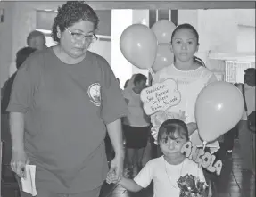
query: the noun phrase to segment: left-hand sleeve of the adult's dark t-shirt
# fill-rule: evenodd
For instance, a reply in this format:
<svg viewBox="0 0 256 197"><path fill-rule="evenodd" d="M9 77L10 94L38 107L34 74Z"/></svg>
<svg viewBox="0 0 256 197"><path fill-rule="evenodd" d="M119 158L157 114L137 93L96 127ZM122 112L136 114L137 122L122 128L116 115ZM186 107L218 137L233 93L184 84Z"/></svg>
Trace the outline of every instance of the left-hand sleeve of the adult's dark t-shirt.
<svg viewBox="0 0 256 197"><path fill-rule="evenodd" d="M31 55L17 71L6 111L26 113L29 110L40 78L37 61L39 58Z"/></svg>

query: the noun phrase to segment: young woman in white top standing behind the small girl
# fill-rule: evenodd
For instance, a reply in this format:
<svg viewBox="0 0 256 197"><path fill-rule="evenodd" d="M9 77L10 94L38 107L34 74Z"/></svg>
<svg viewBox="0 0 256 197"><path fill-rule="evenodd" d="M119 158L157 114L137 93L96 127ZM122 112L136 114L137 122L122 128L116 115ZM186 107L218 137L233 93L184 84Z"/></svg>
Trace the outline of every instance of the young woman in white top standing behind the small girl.
<svg viewBox="0 0 256 197"><path fill-rule="evenodd" d="M181 101L178 105L172 106L166 111L156 112L151 116L152 130L155 137L161 117L182 119L188 127L190 140L193 144L202 146L194 116L195 103L202 88L211 82L217 81L217 78L210 70L196 61L194 54L198 51L198 48L199 35L193 26L182 24L173 31L170 50L174 53L175 61L155 73L153 84L169 78L175 80L181 94ZM219 149L218 141L207 144L207 147L210 148L211 153L217 152Z"/></svg>

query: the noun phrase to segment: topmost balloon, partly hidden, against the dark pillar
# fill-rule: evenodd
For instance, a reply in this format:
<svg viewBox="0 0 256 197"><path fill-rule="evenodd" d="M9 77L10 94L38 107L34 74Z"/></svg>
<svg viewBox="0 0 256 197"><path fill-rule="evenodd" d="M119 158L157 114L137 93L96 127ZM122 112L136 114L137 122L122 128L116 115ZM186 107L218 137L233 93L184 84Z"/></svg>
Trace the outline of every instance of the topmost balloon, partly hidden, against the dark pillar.
<svg viewBox="0 0 256 197"><path fill-rule="evenodd" d="M171 34L176 26L168 20L160 20L153 24L151 28L157 37L158 43L170 43Z"/></svg>

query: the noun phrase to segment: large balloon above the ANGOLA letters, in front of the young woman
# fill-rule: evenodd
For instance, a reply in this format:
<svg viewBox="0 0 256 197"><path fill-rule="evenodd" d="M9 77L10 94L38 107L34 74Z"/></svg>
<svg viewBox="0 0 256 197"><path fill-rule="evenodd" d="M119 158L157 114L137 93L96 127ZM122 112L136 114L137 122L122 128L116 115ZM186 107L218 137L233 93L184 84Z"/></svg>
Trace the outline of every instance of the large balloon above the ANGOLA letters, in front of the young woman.
<svg viewBox="0 0 256 197"><path fill-rule="evenodd" d="M195 103L198 132L204 142L216 140L235 127L244 112L244 99L234 85L218 81L205 86Z"/></svg>

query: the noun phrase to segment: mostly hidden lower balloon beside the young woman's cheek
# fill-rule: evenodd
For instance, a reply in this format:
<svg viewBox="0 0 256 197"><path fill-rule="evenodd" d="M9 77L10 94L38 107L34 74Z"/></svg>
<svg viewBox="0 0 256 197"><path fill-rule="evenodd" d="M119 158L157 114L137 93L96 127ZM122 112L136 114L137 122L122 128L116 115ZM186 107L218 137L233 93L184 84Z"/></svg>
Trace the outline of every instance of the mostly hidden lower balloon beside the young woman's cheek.
<svg viewBox="0 0 256 197"><path fill-rule="evenodd" d="M169 50L169 44L159 44L157 46L156 58L152 67L153 72L157 72L162 68L171 65L173 57L173 53Z"/></svg>

